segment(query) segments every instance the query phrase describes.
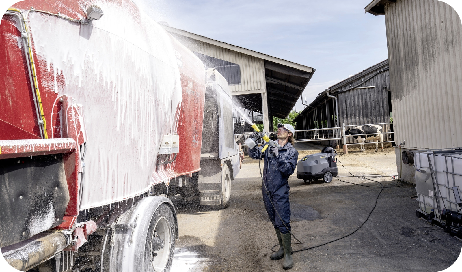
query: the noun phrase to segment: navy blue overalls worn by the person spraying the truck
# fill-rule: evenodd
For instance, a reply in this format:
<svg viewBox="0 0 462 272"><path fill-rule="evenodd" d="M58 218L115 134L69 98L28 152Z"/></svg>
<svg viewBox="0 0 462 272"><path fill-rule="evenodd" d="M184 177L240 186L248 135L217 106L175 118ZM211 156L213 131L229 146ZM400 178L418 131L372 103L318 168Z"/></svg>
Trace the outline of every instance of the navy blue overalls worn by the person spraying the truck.
<svg viewBox="0 0 462 272"><path fill-rule="evenodd" d="M279 229L281 233L289 233L290 230L290 204L289 204L289 183L287 179L295 171L298 161L298 151L292 146L291 143L281 146L279 154L276 157L269 156L268 148L263 153L264 166L263 166L263 181L270 192L271 200L274 207L265 192L265 185L261 186L263 193L263 202L268 213L269 220L274 225L274 229ZM249 157L258 159L261 154L261 147L254 147L248 149ZM274 209L279 213L282 222ZM287 228L284 227L286 224Z"/></svg>

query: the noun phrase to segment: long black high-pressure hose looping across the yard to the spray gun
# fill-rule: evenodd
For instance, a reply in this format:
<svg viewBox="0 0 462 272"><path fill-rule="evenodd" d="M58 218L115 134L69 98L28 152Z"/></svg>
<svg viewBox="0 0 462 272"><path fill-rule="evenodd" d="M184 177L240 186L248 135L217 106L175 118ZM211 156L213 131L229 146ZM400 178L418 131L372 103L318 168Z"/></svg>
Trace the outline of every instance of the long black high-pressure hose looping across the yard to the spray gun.
<svg viewBox="0 0 462 272"><path fill-rule="evenodd" d="M268 198L269 198L269 201L271 202L271 205L274 207L273 201L272 201L272 199L271 199L271 197L270 197L270 194L271 194L271 193L268 191L267 186L266 186L266 184L265 184L265 181L263 180L263 175L261 174L261 155L262 155L262 154L263 154L263 153L260 152L260 158L259 158L259 162L258 162L258 167L259 167L259 169L260 169L261 181L263 181L263 186L265 186L265 193L267 194L267 196L268 196ZM341 163L340 160L339 160L338 158L337 158L337 161L343 166L343 168L345 168L345 166L343 165L343 163ZM345 168L345 170L346 170L348 173L350 173L350 171L348 171L346 168ZM367 185L357 184L357 183L353 183L353 182L342 181L342 180L340 180L339 178L335 177L335 178L338 179L339 181L346 182L346 183L351 183L351 184L354 184L354 185L359 185L359 186L363 186L363 187L381 188L381 189L380 189L380 192L377 194L377 198L376 198L374 207L372 208L371 212L369 212L369 215L367 216L366 220L363 222L363 224L361 224L361 225L359 226L358 229L354 230L354 231L353 231L352 233L350 233L350 234L347 234L347 235L342 236L342 237L340 237L340 238L337 238L337 239L335 239L335 240L332 240L332 241L329 241L329 242L325 242L325 243L323 243L323 244L320 244L320 245L317 245L317 246L314 246L314 247L309 247L309 248L302 248L302 249L298 249L298 250L293 250L292 253L293 253L293 252L304 251L304 250L308 250L308 249L312 249L312 248L319 248L319 247L324 246L324 245L327 245L327 244L329 244L329 243L331 243L331 242L339 241L339 240L341 240L341 239L343 239L343 238L346 238L346 237L352 235L353 233L355 233L356 231L358 231L358 230L367 222L367 220L369 220L369 218L371 217L372 212L374 212L374 210L375 210L375 208L376 208L376 206L377 206L377 201L378 201L378 198L379 198L380 194L381 194L382 191L383 191L383 188L395 188L395 187L401 187L401 186L403 186L400 182L398 182L397 180L395 180L395 181L398 182L400 185L398 185L398 186L384 187L383 184L380 183L379 181L375 181L375 180L372 180L372 179L370 179L370 178L366 178L366 177L364 177L364 176L361 177L361 176L353 175L352 173L350 173L350 175L351 175L351 176L358 177L358 178L362 178L362 179L366 179L366 180L370 180L370 181L377 182L377 183L380 184L380 186L381 186L381 187L367 186ZM284 221L282 221L282 218L280 217L280 215L279 215L279 213L278 213L278 211L276 210L275 207L274 207L274 211L275 211L276 214L278 215L278 217L279 217L279 219L281 220L282 224L284 224ZM286 224L284 224L284 226L286 227L287 230L289 230L289 228L287 228ZM300 242L300 240L298 240L297 237L295 237L295 235L293 235L293 233L292 233L290 230L289 230L289 232L290 232L290 234L295 238L295 240L297 240L297 241L299 242L299 243L292 243L292 244L300 244L300 245L303 244L303 242ZM275 248L276 246L279 246L279 244L274 245L273 248ZM274 249L272 249L272 250L274 251ZM274 251L274 252L276 252L276 251Z"/></svg>

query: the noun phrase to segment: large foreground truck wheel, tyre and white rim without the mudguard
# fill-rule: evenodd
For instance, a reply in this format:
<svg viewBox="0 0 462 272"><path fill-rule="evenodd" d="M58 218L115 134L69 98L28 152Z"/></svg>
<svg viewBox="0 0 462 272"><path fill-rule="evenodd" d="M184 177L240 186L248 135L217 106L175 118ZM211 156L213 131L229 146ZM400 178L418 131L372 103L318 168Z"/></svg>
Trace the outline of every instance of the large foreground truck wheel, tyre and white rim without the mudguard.
<svg viewBox="0 0 462 272"><path fill-rule="evenodd" d="M146 272L168 272L175 251L175 221L167 204L160 205L151 219L145 245Z"/></svg>

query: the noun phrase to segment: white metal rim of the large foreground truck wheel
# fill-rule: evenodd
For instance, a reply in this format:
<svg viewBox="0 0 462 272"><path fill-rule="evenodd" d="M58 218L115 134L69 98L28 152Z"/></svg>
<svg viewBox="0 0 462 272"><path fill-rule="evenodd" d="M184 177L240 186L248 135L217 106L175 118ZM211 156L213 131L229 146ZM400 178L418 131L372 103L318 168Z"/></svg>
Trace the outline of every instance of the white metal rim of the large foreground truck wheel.
<svg viewBox="0 0 462 272"><path fill-rule="evenodd" d="M154 240L156 238L160 238L164 241L164 247L161 249L152 248ZM171 245L171 237L170 237L170 227L169 223L166 218L162 217L156 223L156 227L154 228L154 233L152 234L152 267L154 271L161 272L164 270L165 266L168 263L169 255L170 255L170 245Z"/></svg>

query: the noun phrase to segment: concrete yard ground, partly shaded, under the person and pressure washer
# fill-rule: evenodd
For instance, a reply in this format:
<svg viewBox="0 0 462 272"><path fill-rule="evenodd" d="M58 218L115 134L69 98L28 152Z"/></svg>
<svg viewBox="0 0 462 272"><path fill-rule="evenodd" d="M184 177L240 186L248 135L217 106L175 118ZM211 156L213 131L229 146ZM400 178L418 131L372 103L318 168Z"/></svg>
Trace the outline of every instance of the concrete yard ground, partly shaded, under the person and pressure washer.
<svg viewBox="0 0 462 272"><path fill-rule="evenodd" d="M299 159L304 156L300 152ZM396 175L395 153L352 152L339 160L353 175ZM178 209L179 240L171 271L284 271L283 260L270 260L277 237L261 196L258 161L242 165L231 182L231 204L224 210ZM263 162L262 165L263 166ZM339 176L349 175L339 163ZM381 191L379 183L357 177L305 184L289 178L292 232L303 245L313 247L357 230L369 216ZM382 180L382 193L367 222L352 235L327 245L293 254L290 271L381 272L442 271L461 253L461 241L437 226L417 218L411 197L415 186ZM396 187L399 186L399 187ZM388 187L388 188L387 188ZM297 242L292 238L292 243Z"/></svg>

